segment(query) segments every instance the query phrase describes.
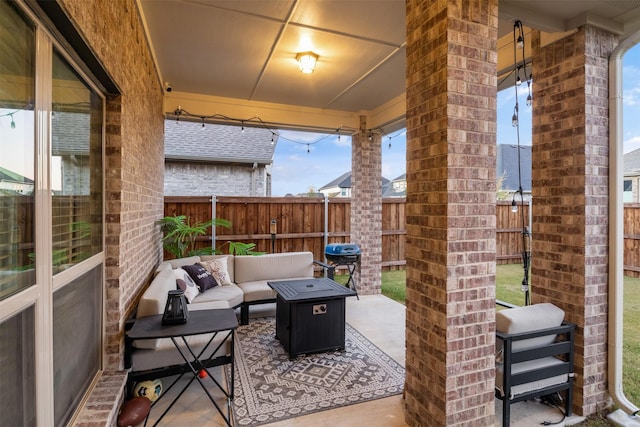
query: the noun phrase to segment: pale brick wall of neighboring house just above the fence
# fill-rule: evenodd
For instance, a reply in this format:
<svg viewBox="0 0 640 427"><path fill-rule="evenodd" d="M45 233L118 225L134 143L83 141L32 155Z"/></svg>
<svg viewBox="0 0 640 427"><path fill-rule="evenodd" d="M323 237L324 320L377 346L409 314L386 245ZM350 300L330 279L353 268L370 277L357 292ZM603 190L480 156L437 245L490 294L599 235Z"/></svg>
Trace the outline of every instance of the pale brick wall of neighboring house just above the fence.
<svg viewBox="0 0 640 427"><path fill-rule="evenodd" d="M222 165L167 162L164 170L165 196L265 197L267 170L250 164Z"/></svg>

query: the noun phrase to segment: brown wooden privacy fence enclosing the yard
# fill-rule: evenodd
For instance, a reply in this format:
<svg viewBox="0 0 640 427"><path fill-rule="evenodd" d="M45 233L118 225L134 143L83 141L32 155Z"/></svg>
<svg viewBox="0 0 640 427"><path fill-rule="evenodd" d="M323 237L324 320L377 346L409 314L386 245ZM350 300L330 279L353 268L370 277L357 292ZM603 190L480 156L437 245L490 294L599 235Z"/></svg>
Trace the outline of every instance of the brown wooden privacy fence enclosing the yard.
<svg viewBox="0 0 640 427"><path fill-rule="evenodd" d="M227 253L229 241L252 242L261 252L311 251L324 258L328 243L350 242L351 200L320 197L165 197L165 215L186 215L191 221L216 218L232 222L230 229L216 227L215 235L204 236L198 247L211 246ZM271 235L275 220L276 234ZM529 224L529 205L496 203L496 259L499 264L522 262L523 221ZM624 208L625 274L640 276L640 204ZM405 199L382 201L382 267L405 265ZM535 244L535 243L534 243ZM168 256L168 254L165 254Z"/></svg>

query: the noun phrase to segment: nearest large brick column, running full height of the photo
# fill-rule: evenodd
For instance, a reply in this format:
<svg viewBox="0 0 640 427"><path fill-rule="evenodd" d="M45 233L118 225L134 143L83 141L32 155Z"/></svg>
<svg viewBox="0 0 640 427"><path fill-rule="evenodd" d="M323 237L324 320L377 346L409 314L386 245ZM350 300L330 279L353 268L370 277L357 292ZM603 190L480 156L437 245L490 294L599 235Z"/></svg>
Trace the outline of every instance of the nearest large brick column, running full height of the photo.
<svg viewBox="0 0 640 427"><path fill-rule="evenodd" d="M497 28L497 0L407 1L412 426L496 422Z"/></svg>

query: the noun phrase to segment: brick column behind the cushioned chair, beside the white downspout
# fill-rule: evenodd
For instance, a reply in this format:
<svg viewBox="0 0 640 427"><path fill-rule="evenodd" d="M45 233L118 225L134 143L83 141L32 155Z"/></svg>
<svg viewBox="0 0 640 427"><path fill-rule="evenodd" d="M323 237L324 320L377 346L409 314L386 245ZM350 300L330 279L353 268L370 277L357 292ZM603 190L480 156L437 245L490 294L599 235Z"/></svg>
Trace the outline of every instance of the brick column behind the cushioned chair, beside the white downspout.
<svg viewBox="0 0 640 427"><path fill-rule="evenodd" d="M532 301L578 324L574 410L607 405L608 58L611 33L534 36Z"/></svg>

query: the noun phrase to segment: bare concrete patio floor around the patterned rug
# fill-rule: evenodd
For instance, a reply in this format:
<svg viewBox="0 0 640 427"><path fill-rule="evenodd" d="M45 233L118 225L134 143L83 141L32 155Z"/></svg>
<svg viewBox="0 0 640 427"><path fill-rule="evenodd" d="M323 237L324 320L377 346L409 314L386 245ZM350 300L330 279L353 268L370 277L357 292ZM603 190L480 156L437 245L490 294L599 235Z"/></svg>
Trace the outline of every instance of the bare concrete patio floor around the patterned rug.
<svg viewBox="0 0 640 427"><path fill-rule="evenodd" d="M275 315L275 304L253 306L252 317ZM347 322L365 335L381 350L404 366L405 363L405 307L383 295L361 295L360 299L347 298ZM221 370L217 370L220 375ZM173 392L173 391L172 391ZM220 399L220 403L223 400ZM502 402L495 401L496 426L502 425ZM147 425L162 413L161 405L154 408ZM511 426L533 427L543 422L557 422L562 414L539 402L520 402L511 407ZM568 426L583 421L582 417L569 417L557 426ZM160 425L224 426L198 384L192 384L162 420ZM272 424L269 427L401 427L404 421L404 403L401 395L373 400L338 409L317 412ZM425 420L424 426L430 426Z"/></svg>

